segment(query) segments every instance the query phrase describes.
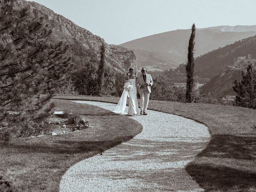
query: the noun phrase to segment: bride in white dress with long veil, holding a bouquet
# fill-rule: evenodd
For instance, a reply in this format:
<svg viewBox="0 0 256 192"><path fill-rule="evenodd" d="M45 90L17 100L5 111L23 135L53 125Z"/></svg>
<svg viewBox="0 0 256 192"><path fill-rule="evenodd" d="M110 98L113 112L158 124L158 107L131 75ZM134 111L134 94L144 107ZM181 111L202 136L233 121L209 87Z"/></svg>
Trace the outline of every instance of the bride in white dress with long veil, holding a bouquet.
<svg viewBox="0 0 256 192"><path fill-rule="evenodd" d="M126 100L127 96L129 97L129 107L128 107L128 116L135 116L140 114L137 100L137 88L136 88L136 75L134 74L134 68L129 69L129 75L126 76L126 82L132 84L132 89L127 91L124 90L122 96L114 110L115 113L126 114L124 111L126 109ZM128 94L129 93L129 94Z"/></svg>

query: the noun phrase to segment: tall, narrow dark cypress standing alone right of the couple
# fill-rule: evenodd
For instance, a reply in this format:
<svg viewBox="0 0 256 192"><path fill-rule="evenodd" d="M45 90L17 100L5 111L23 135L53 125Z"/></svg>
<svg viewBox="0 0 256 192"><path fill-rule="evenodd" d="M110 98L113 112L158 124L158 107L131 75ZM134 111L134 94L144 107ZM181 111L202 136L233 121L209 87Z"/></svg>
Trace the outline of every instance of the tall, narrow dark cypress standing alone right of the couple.
<svg viewBox="0 0 256 192"><path fill-rule="evenodd" d="M195 46L195 36L196 36L196 26L192 25L192 32L188 42L188 61L186 63L186 74L187 74L187 84L186 84L186 102L193 102L193 91L194 91L194 46Z"/></svg>

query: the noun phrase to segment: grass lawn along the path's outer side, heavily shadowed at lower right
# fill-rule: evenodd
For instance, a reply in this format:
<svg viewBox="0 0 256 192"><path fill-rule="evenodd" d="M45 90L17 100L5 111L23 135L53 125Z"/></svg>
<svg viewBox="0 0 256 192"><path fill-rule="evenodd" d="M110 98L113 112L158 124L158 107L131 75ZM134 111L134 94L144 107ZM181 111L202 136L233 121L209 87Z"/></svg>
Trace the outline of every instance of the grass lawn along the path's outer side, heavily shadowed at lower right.
<svg viewBox="0 0 256 192"><path fill-rule="evenodd" d="M74 95L55 98L112 103L119 100ZM186 171L206 192L256 191L256 130L252 128L256 125L256 110L158 100L150 100L148 108L194 119L209 127L209 144L186 166Z"/></svg>

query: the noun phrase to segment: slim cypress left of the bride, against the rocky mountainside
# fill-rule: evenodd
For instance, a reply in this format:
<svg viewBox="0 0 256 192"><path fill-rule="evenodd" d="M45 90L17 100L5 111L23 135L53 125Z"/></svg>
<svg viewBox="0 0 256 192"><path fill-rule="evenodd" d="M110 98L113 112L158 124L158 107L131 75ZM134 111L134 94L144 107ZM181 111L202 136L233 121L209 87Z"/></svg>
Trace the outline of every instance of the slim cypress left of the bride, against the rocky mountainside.
<svg viewBox="0 0 256 192"><path fill-rule="evenodd" d="M105 45L102 42L100 47L100 64L98 70L98 95L102 96L103 94L103 86L104 86L104 74L105 74Z"/></svg>

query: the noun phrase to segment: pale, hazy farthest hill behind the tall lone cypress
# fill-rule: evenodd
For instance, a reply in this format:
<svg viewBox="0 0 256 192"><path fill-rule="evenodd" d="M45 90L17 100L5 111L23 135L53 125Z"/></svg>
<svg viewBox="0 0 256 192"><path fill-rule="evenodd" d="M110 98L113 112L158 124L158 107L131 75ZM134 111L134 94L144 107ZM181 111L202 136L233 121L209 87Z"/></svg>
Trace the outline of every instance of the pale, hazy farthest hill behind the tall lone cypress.
<svg viewBox="0 0 256 192"><path fill-rule="evenodd" d="M157 66L161 69L170 69L186 62L190 33L191 29L174 30L132 40L120 46L134 51L138 67ZM194 56L206 54L254 35L256 25L198 28Z"/></svg>

